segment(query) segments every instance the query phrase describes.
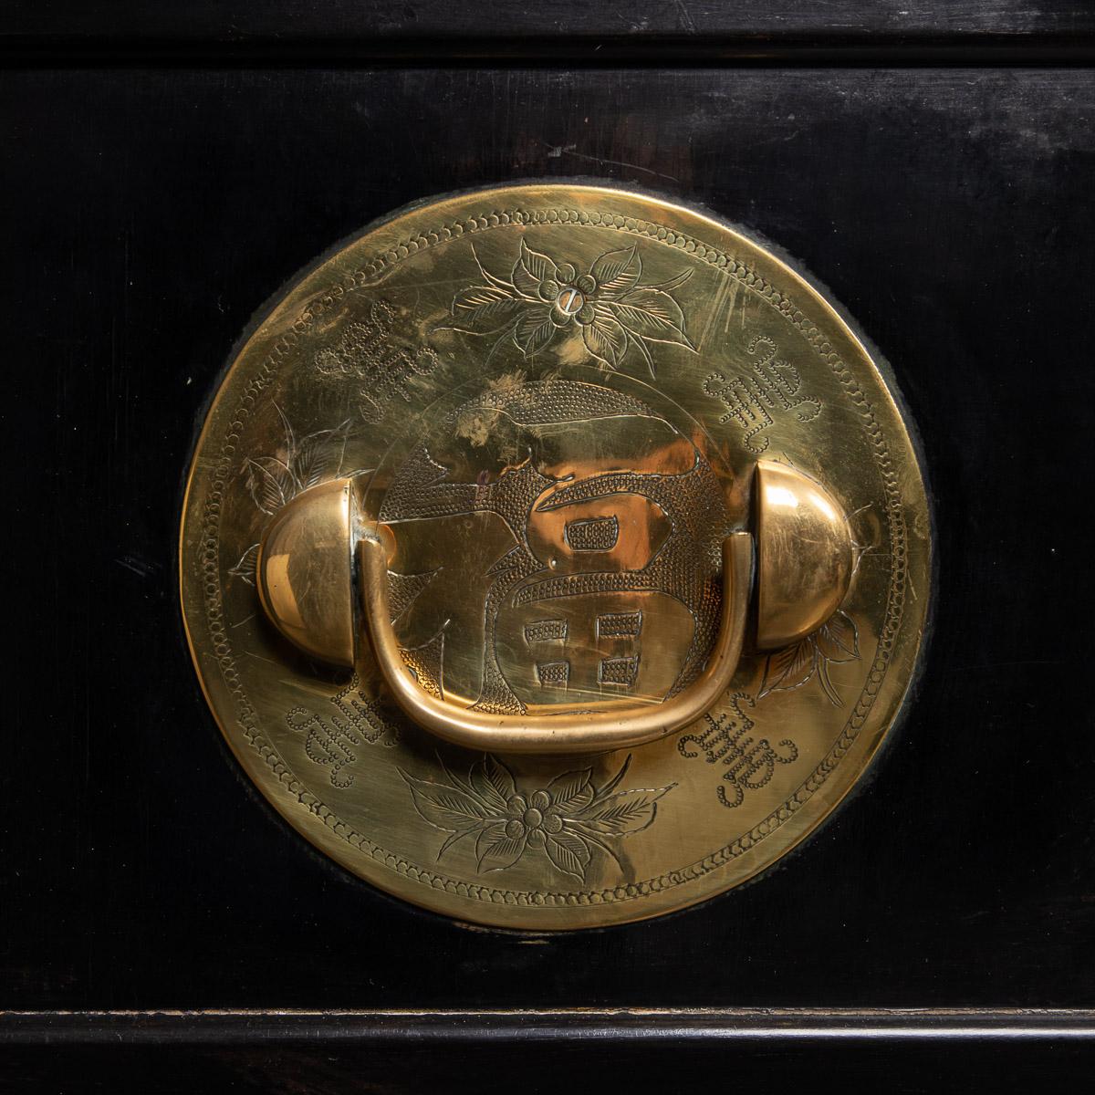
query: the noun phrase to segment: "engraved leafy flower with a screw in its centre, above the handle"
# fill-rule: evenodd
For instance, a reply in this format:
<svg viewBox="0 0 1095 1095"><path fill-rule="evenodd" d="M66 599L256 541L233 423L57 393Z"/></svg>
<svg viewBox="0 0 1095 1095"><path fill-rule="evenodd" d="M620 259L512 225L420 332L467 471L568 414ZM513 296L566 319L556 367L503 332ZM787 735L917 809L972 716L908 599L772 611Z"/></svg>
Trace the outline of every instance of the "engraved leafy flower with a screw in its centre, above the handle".
<svg viewBox="0 0 1095 1095"><path fill-rule="evenodd" d="M474 254L474 250L472 252ZM691 276L684 270L660 285L641 285L638 245L607 251L578 273L521 240L508 279L489 273L475 256L485 284L457 293L454 330L498 335L492 354L507 338L526 357L545 349L568 331L578 331L588 353L616 369L635 349L654 376L648 343L675 343L695 350L684 330L684 313L672 290Z"/></svg>

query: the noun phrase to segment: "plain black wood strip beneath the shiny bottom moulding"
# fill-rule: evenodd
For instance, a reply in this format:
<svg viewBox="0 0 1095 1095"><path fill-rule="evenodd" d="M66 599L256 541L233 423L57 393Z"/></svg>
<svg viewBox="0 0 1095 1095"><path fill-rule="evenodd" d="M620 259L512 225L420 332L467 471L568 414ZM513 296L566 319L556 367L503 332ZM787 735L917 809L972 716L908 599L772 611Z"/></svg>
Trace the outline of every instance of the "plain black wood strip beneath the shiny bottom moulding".
<svg viewBox="0 0 1095 1095"><path fill-rule="evenodd" d="M447 1022L445 1037L393 1026L389 1036L339 1037L337 1018L316 1017L300 1037L245 1040L65 1042L3 1047L0 1076L21 1095L255 1092L480 1093L503 1085L529 1095L618 1090L866 1090L887 1095L1075 1092L1095 1064L1090 1041L719 1038L693 1027L673 1036L570 1027L505 1029ZM471 1037L465 1037L471 1035ZM542 1035L543 1037L540 1037Z"/></svg>

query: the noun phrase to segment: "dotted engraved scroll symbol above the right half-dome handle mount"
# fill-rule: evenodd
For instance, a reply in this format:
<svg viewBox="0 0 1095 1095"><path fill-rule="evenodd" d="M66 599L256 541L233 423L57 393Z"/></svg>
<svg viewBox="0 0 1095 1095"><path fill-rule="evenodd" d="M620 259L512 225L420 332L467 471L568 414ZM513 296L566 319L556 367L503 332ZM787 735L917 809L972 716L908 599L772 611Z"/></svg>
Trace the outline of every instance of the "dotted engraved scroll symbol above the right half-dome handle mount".
<svg viewBox="0 0 1095 1095"><path fill-rule="evenodd" d="M763 353L748 373L727 380L713 372L703 382L703 390L726 407L718 420L736 422L746 431L746 448L754 456L769 446L766 430L773 425L773 411L794 411L799 422L812 422L821 413L820 400L799 394L803 381L798 370L788 361L776 360L775 343L766 335L756 335L747 350L756 355L758 348Z"/></svg>

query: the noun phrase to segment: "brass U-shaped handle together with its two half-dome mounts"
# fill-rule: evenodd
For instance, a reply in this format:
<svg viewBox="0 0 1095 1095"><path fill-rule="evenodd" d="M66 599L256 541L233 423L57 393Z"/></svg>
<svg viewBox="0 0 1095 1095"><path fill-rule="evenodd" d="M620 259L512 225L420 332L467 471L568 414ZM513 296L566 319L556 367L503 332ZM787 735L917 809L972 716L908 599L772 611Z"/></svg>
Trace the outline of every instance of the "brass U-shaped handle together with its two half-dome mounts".
<svg viewBox="0 0 1095 1095"><path fill-rule="evenodd" d="M761 460L754 475L758 625L754 646L779 649L822 626L848 592L852 545L838 504L792 468ZM603 752L655 741L700 718L729 687L746 632L752 539L723 543L723 607L715 646L701 677L658 704L614 705L540 716L459 707L435 699L407 671L391 625L388 593L392 533L355 535L353 485L335 480L290 502L263 538L258 596L270 622L306 654L355 664L351 558L358 560L370 655L392 699L415 723L469 749L500 752ZM355 545L356 541L356 545Z"/></svg>

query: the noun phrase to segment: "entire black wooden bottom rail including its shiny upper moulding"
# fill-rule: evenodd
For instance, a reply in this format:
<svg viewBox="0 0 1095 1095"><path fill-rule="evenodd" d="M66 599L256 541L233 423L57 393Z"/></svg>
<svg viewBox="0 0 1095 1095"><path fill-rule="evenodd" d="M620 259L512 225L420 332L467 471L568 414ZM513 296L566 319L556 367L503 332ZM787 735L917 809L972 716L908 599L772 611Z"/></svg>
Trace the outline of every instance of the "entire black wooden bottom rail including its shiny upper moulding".
<svg viewBox="0 0 1095 1095"><path fill-rule="evenodd" d="M0 1013L21 1093L691 1091L712 1077L902 1093L1073 1092L1091 1012Z"/></svg>

